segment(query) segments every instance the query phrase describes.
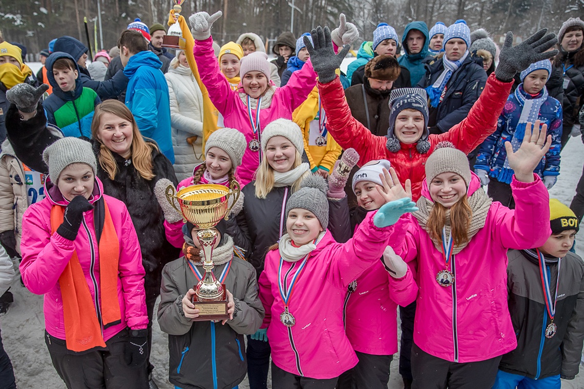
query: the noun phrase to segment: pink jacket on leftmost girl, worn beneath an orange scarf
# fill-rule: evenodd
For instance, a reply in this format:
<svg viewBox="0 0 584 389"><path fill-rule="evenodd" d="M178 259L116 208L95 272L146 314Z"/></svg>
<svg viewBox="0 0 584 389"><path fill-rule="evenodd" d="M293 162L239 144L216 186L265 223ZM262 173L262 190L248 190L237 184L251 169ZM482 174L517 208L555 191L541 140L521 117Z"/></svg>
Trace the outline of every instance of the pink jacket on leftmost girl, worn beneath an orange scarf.
<svg viewBox="0 0 584 389"><path fill-rule="evenodd" d="M65 239L56 232L51 234L51 208L55 204L67 206L68 201L62 197L56 185L50 184L49 178L45 181L45 193L47 197L29 206L22 219L20 272L30 292L44 295L43 310L47 332L55 338L65 339L59 276L69 262L73 251L77 251L89 292L95 299L94 281L96 285L99 285L100 258L96 250L98 242L93 225L93 210L84 213L82 226L74 241ZM93 204L102 196L109 207L120 242L117 296L120 303L121 323L103 330L103 339L107 341L126 327L132 330L146 328L148 316L144 293L145 272L142 267L140 244L138 244L130 214L123 202L103 194L102 183L96 177L89 202ZM92 264L93 272L90 269Z"/></svg>

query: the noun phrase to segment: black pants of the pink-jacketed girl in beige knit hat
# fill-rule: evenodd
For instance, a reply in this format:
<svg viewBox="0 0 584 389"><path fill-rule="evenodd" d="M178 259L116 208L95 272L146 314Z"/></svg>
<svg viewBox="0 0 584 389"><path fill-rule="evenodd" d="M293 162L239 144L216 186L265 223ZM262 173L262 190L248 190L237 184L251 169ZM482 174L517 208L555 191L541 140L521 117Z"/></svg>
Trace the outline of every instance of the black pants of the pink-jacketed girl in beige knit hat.
<svg viewBox="0 0 584 389"><path fill-rule="evenodd" d="M412 347L413 389L491 389L502 356L479 362L457 363Z"/></svg>

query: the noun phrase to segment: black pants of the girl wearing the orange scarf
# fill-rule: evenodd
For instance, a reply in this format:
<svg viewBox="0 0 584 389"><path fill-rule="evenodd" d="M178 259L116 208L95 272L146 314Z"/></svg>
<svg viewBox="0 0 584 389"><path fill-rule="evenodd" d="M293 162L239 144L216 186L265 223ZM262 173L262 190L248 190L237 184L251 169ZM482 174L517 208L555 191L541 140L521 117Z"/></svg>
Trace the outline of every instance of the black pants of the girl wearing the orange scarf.
<svg viewBox="0 0 584 389"><path fill-rule="evenodd" d="M106 341L106 350L73 352L65 341L45 331L45 343L59 377L68 389L147 389L147 366L133 368L124 362L127 328Z"/></svg>

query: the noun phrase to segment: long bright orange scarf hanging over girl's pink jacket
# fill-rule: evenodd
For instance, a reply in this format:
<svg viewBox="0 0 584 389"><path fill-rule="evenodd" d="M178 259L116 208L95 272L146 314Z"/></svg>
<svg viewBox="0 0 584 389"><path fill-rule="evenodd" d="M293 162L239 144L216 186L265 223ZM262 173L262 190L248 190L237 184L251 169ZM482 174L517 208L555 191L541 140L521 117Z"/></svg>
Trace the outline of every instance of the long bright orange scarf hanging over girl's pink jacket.
<svg viewBox="0 0 584 389"><path fill-rule="evenodd" d="M113 226L107 203L105 205L105 222L99 241L99 290L101 297L102 323L121 320L120 304L117 299L118 261L120 257L119 239ZM53 205L51 208L51 231L54 233L63 222L65 207ZM94 213L95 217L95 213ZM79 263L77 251L73 251L71 259L59 277L61 298L63 301L63 317L65 324L65 341L71 351L85 351L101 346L105 347L102 327L95 311L95 304L89 292L85 274Z"/></svg>

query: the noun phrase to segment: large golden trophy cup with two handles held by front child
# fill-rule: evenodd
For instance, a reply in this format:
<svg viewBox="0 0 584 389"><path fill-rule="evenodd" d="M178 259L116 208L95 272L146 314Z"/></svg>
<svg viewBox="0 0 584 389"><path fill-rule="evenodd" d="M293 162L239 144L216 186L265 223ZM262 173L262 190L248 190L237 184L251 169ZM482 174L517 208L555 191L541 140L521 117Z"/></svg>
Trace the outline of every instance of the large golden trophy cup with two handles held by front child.
<svg viewBox="0 0 584 389"><path fill-rule="evenodd" d="M217 231L213 229L221 221L228 220L231 208L239 198L241 188L237 181L231 181L231 187L223 185L204 184L191 185L178 192L172 185L166 187L166 199L183 215L183 219L193 223L201 229L197 232L197 240L203 248L203 278L193 286L193 304L199 310L199 317L194 321L224 320L228 319L227 296L225 285L217 281L213 274L213 247L217 240ZM173 199L179 203L176 208ZM228 205L232 199L231 206Z"/></svg>

